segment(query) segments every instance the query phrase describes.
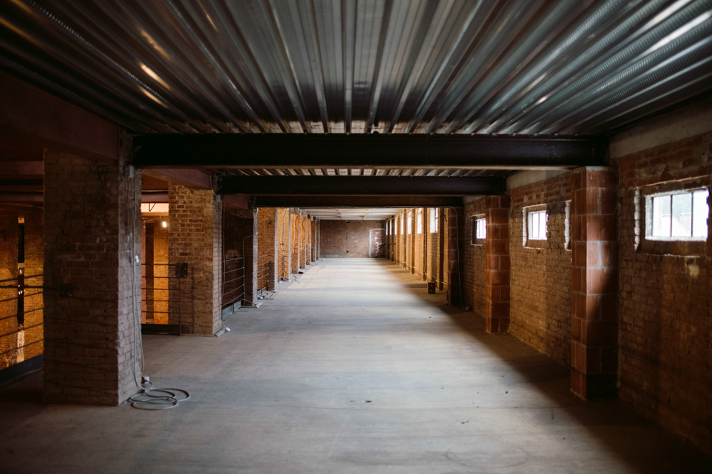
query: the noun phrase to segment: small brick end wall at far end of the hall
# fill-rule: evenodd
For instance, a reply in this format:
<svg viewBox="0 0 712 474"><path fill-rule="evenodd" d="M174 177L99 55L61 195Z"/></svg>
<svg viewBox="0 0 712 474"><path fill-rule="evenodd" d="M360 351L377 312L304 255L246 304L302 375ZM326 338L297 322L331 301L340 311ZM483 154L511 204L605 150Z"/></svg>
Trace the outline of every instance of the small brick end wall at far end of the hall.
<svg viewBox="0 0 712 474"><path fill-rule="evenodd" d="M371 230L383 231L383 221L320 221L321 255L323 258L368 258ZM381 250L383 246L380 247ZM383 257L383 254L372 255Z"/></svg>

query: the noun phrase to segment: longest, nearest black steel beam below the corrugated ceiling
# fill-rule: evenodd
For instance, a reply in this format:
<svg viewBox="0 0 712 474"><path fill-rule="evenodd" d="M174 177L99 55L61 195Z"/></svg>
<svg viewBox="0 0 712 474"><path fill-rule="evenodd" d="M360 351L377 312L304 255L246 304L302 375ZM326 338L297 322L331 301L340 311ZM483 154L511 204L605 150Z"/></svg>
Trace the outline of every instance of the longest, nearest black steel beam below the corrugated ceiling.
<svg viewBox="0 0 712 474"><path fill-rule="evenodd" d="M602 166L607 141L579 136L149 134L138 168L555 169Z"/></svg>

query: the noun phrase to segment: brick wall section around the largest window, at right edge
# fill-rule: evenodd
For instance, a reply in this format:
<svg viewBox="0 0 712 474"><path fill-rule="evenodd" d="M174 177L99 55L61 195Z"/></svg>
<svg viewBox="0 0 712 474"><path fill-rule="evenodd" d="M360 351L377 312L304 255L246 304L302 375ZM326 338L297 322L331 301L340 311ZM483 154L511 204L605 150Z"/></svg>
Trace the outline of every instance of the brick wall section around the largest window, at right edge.
<svg viewBox="0 0 712 474"><path fill-rule="evenodd" d="M624 156L619 165L619 389L640 413L712 453L711 239L704 255L636 250L636 188L708 180L712 134ZM712 222L712 221L711 221Z"/></svg>

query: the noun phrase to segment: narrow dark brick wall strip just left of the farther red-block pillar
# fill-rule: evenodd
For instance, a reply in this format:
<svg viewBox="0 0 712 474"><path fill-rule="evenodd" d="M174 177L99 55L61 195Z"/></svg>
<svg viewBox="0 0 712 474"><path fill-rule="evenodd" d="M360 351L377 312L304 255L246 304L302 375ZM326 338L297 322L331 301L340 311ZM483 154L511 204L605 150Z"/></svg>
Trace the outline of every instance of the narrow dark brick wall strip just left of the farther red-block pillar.
<svg viewBox="0 0 712 474"><path fill-rule="evenodd" d="M465 205L465 304L472 308L475 314L483 318L485 318L487 312L485 245L481 242L473 242L472 236L474 235L474 217L484 215L485 209L486 198L481 198Z"/></svg>

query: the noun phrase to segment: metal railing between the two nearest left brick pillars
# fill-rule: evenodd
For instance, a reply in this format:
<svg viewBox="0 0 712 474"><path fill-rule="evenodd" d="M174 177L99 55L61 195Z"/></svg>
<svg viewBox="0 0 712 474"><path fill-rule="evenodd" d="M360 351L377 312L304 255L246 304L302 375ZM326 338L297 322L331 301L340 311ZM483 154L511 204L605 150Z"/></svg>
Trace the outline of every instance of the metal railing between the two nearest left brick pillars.
<svg viewBox="0 0 712 474"><path fill-rule="evenodd" d="M187 264L141 264L141 320L182 324L182 280Z"/></svg>

